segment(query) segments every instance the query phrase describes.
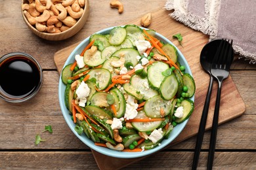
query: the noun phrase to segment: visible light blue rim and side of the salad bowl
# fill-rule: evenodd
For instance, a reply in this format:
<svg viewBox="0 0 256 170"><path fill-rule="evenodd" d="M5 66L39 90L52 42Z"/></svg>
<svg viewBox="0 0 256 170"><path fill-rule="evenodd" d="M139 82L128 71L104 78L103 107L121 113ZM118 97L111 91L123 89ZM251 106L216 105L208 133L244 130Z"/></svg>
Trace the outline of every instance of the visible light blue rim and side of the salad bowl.
<svg viewBox="0 0 256 170"><path fill-rule="evenodd" d="M97 33L100 34L108 34L110 32L110 30L113 27L109 27L106 29L102 29L101 31L98 31ZM171 41L169 41L168 39L166 39L165 37L163 37L163 35L160 35L159 33L156 33L156 38L158 38L160 41L163 41L165 43L169 43L172 44L173 46L175 46ZM80 54L83 50L83 48L85 48L85 46L87 46L87 44L89 43L89 37L87 37L84 41L82 41L74 50L73 52L70 54L70 56L68 57L68 59L66 60L65 65L68 65L70 63L74 62L74 58L76 54ZM177 48L175 46L175 48ZM188 65L188 62L186 61L186 59L184 58L184 56L181 54L180 50L177 48L177 52L178 52L178 60L181 63L181 65L184 65L186 67L186 73L189 73L190 75L192 75L190 67ZM58 84L58 96L59 96L59 101L60 101L60 108L62 110L62 114L68 124L68 126L70 127L70 129L72 130L72 132L83 142L85 143L87 146L89 146L91 149L95 150L96 152L100 152L101 154L104 154L106 156L112 156L115 158L139 158L142 156L147 156L149 154L153 154L155 152L158 152L159 150L165 148L165 146L167 146L168 144L171 143L171 141L173 141L182 131L182 129L184 129L184 127L186 126L188 120L185 120L184 122L182 122L181 124L178 124L177 126L175 126L173 128L173 131L171 131L171 135L169 135L168 139L163 139L163 141L161 142L161 145L153 148L151 150L145 150L144 152L119 152L116 150L110 150L108 148L104 148L101 146L95 146L95 144L93 143L93 141L91 141L90 139L88 139L86 137L85 134L82 135L78 135L77 132L75 131L75 124L74 122L71 120L70 118L70 114L68 109L66 109L65 103L64 103L64 91L65 91L66 85L62 83L61 80L61 76L60 76L60 80L59 80L59 84ZM194 96L191 98L192 101L194 101Z"/></svg>

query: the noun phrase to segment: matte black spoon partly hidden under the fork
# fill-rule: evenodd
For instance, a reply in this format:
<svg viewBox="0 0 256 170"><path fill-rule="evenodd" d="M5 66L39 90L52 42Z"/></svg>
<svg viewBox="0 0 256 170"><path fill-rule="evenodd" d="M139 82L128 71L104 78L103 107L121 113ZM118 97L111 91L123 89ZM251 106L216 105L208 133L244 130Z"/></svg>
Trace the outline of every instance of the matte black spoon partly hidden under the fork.
<svg viewBox="0 0 256 170"><path fill-rule="evenodd" d="M217 52L217 48L219 47L220 43L221 43L221 40L219 40L219 39L208 42L203 47L202 52L200 54L200 63L202 65L203 69L207 73L209 73L210 82L209 82L209 87L207 90L207 95L205 98L205 105L203 106L203 113L202 113L202 117L200 120L200 126L198 129L198 135L197 135L197 139L196 139L196 148L195 148L195 152L194 152L194 160L193 160L193 164L192 164L192 169L196 169L198 166L198 160L199 160L200 151L201 151L202 142L203 142L203 133L205 131L206 120L207 120L207 115L208 115L208 110L209 110L211 90L213 88L213 76L211 75L211 63L213 61L213 58Z"/></svg>

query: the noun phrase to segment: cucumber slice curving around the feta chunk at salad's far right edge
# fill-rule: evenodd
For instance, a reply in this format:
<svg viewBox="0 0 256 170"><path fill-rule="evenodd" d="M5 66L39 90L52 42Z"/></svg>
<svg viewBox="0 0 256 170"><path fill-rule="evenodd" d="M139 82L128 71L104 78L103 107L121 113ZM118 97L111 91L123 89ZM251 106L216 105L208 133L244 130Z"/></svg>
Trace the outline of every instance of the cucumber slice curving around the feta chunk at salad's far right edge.
<svg viewBox="0 0 256 170"><path fill-rule="evenodd" d="M194 110L194 102L190 99L184 99L181 101L181 106L183 107L183 116L182 118L177 118L175 122L181 123L184 120L188 119Z"/></svg>

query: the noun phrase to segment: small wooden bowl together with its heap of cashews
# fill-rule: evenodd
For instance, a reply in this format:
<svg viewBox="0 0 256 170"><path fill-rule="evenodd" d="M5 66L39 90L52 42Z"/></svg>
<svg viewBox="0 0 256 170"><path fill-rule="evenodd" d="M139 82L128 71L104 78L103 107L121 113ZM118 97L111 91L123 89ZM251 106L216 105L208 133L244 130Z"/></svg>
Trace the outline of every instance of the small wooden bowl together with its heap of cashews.
<svg viewBox="0 0 256 170"><path fill-rule="evenodd" d="M22 0L21 6L32 32L50 41L72 37L89 16L89 0Z"/></svg>

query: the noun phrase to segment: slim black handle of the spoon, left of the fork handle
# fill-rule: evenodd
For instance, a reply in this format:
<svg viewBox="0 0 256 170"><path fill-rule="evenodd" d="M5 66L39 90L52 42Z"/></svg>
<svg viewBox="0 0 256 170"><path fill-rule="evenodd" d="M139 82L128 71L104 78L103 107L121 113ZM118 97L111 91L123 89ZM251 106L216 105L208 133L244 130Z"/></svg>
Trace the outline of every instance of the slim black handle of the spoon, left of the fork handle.
<svg viewBox="0 0 256 170"><path fill-rule="evenodd" d="M203 134L205 131L205 126L206 126L206 120L207 120L207 116L208 116L208 110L209 110L209 103L210 103L210 99L211 99L211 90L213 89L213 76L210 76L210 82L209 82L209 87L207 90L207 95L205 98L205 105L203 106L203 113L202 113L202 117L200 120L200 126L198 129L198 135L197 135L197 139L196 139L196 148L195 148L195 152L194 152L194 158L193 158L193 164L192 164L192 169L196 169L198 166L198 160L199 160L199 156L200 156L200 151L201 151L201 147L202 147L202 142L203 142Z"/></svg>

